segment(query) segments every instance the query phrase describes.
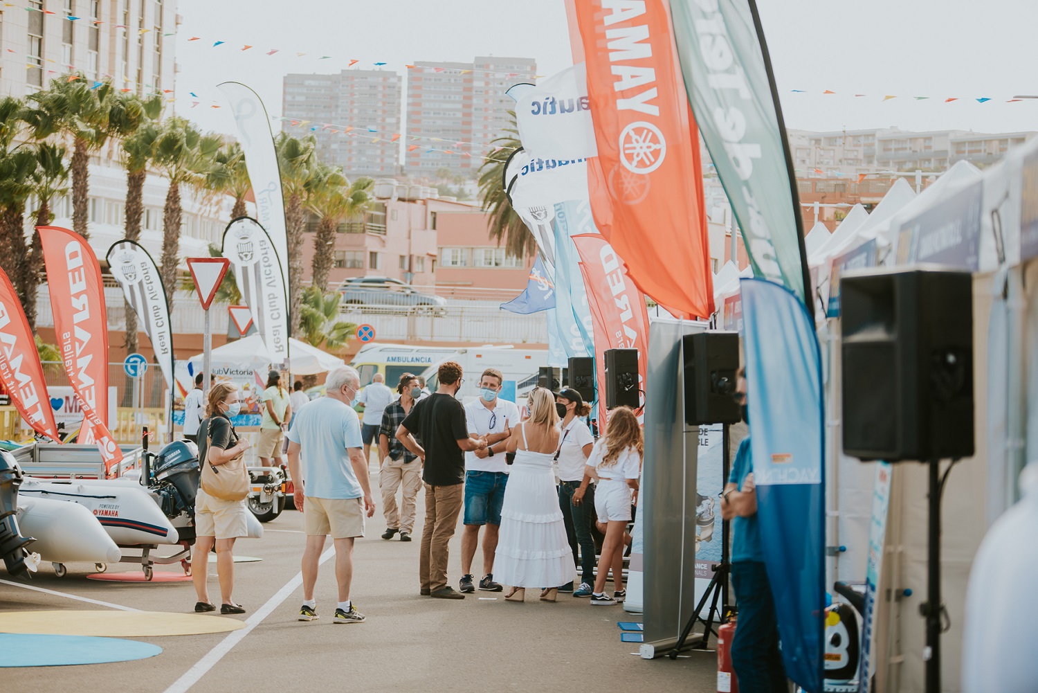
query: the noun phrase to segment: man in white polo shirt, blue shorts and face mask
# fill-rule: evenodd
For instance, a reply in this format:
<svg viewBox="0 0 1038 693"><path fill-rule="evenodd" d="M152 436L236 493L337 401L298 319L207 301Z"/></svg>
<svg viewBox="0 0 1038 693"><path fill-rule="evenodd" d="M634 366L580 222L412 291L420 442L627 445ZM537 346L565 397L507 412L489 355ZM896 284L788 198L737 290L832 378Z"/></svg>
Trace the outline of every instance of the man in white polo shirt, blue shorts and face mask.
<svg viewBox="0 0 1038 693"><path fill-rule="evenodd" d="M483 535L483 570L480 589L499 592L503 589L494 582L494 552L497 550L497 530L501 524L501 504L504 486L509 480L504 448L513 426L519 423L519 407L514 402L500 399L504 376L488 368L480 378L480 397L465 405L468 434L484 438L486 450L465 453L465 530L461 536L462 592L474 592L472 558L480 543L480 528L486 525Z"/></svg>

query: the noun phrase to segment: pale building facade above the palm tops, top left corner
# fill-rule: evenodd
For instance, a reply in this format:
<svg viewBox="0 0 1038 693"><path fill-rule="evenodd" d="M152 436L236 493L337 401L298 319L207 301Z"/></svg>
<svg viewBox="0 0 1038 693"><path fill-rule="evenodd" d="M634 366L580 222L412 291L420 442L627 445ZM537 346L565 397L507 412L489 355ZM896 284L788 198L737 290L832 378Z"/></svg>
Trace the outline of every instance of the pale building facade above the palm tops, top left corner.
<svg viewBox="0 0 1038 693"><path fill-rule="evenodd" d="M46 10L46 11L45 11ZM49 14L48 14L49 12ZM76 19L67 19L67 18ZM138 94L173 88L174 0L26 0L0 11L0 92L80 72Z"/></svg>

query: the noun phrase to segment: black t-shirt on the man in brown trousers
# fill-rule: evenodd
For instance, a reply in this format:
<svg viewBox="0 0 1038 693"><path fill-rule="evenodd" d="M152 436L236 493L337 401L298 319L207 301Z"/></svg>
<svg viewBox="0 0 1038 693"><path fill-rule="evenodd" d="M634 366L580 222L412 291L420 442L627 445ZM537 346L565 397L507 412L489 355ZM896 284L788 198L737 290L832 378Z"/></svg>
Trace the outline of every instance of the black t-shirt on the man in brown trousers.
<svg viewBox="0 0 1038 693"><path fill-rule="evenodd" d="M404 419L404 428L421 436L426 467L421 478L431 486L453 486L465 482L465 453L458 441L468 437L465 407L441 393L419 400Z"/></svg>

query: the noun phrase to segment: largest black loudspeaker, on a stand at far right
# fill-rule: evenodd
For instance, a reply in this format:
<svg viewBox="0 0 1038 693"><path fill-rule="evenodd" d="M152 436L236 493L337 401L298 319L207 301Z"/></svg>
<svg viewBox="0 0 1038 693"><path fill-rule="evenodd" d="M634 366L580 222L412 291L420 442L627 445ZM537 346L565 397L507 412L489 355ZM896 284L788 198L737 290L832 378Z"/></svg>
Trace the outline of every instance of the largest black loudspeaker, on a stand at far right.
<svg viewBox="0 0 1038 693"><path fill-rule="evenodd" d="M891 462L973 455L969 273L848 274L840 302L844 452Z"/></svg>

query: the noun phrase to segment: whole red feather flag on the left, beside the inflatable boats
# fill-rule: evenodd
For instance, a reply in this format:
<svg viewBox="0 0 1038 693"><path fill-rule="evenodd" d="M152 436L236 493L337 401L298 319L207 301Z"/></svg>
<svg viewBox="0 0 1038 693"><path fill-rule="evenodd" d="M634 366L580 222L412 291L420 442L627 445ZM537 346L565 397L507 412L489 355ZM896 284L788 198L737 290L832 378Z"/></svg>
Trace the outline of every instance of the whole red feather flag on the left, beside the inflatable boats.
<svg viewBox="0 0 1038 693"><path fill-rule="evenodd" d="M97 443L105 469L110 470L122 453L108 430L108 319L101 265L79 234L59 226L37 229L58 350L83 407L79 443Z"/></svg>

